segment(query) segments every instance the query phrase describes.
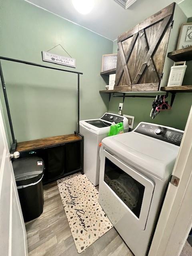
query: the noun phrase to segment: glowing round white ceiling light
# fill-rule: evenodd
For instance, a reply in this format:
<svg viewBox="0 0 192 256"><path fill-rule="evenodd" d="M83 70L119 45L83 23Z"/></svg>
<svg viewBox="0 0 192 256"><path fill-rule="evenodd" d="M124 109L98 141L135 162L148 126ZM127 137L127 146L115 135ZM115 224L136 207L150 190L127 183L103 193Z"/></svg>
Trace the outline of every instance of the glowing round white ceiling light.
<svg viewBox="0 0 192 256"><path fill-rule="evenodd" d="M94 7L95 0L72 0L74 8L81 14L88 14Z"/></svg>

